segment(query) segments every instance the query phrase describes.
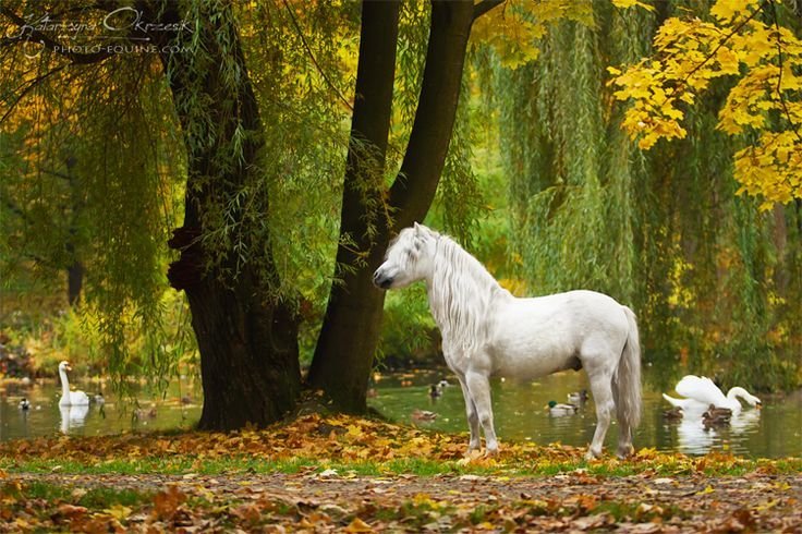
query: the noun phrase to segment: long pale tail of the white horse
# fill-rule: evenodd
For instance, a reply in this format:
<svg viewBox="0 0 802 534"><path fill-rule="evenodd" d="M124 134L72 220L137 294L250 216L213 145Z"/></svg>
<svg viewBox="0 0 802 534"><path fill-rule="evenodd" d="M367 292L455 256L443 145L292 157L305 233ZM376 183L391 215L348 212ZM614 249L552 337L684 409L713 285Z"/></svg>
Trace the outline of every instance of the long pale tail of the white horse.
<svg viewBox="0 0 802 534"><path fill-rule="evenodd" d="M641 422L641 341L634 312L627 306L621 307L627 315L629 329L616 372L616 411L619 420L629 423L630 428L635 428Z"/></svg>

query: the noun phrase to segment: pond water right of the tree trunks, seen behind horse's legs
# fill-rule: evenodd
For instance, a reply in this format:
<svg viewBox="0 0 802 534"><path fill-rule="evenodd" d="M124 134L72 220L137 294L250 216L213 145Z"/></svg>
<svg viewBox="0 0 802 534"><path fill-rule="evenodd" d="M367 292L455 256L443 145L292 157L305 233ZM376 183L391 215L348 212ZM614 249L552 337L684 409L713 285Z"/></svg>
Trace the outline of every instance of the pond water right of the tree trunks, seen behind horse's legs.
<svg viewBox="0 0 802 534"><path fill-rule="evenodd" d="M433 400L428 395L429 386L443 378L451 386ZM448 372L375 375L374 380L376 396L368 402L386 416L443 432L467 432L462 392ZM549 400L568 402L569 392L582 389L590 390L587 378L584 373L574 372L558 373L535 383L494 381L495 426L502 447L505 439L587 446L596 427L592 398L575 415L552 417L546 409ZM644 385L643 417L634 436L635 447L688 454L717 450L754 458L802 456L802 395L761 397L761 410L744 409L739 416L732 417L728 427L706 430L700 418L668 421L664 412L670 406L660 392ZM437 418L422 423L413 418L414 410L434 412ZM617 438L618 428L613 423L605 440L607 451L616 450Z"/></svg>

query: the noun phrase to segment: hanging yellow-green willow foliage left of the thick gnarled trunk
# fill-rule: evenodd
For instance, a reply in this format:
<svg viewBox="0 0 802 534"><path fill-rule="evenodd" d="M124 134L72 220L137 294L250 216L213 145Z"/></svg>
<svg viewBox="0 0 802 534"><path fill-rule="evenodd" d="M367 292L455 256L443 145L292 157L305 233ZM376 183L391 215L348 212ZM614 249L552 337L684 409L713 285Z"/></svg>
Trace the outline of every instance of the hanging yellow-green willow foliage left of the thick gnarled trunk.
<svg viewBox="0 0 802 534"><path fill-rule="evenodd" d="M182 306L163 300L162 243L180 217L185 172L167 87L153 58L118 54L69 69L62 56L35 51L20 45L0 54L0 138L16 161L3 169L0 195L14 208L10 223L19 222L4 235L25 243L4 251L3 270L33 260L40 276L61 279L80 265L77 310L100 341L92 356L127 392L127 375L169 375L173 328L185 326L163 321L165 306Z"/></svg>

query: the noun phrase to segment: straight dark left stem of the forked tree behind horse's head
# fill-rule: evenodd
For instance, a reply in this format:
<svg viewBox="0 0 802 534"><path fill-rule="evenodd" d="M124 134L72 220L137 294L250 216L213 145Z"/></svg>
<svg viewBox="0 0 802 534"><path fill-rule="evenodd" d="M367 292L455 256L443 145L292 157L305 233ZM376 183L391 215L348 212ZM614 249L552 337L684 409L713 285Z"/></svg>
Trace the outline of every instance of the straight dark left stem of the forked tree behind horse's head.
<svg viewBox="0 0 802 534"><path fill-rule="evenodd" d="M370 274L382 251L368 236L375 224L380 241L388 235L388 221L374 213L365 194L379 195L392 109L392 84L398 41L398 1L362 3L360 62L351 122L345 181L340 214L337 264L365 266L336 272L343 283L331 288L326 317L317 340L308 381L326 391L344 411L361 412L365 405L367 375L381 326L384 293L373 288ZM345 244L350 241L350 244ZM357 254L365 254L360 258ZM343 369L348 372L343 373Z"/></svg>

